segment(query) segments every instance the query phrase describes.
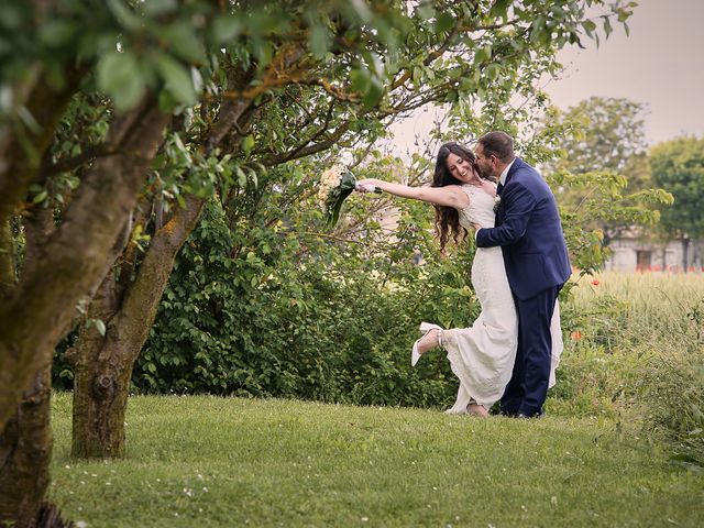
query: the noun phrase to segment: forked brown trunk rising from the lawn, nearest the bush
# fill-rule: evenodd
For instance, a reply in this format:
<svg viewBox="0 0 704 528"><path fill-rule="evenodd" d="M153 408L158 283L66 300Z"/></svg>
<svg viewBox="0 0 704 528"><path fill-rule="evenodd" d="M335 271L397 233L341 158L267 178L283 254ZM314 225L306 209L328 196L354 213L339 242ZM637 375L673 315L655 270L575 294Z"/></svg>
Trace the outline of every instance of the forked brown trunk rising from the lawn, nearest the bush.
<svg viewBox="0 0 704 528"><path fill-rule="evenodd" d="M106 336L82 329L72 351L75 364L72 454L106 459L124 455L124 416L132 370L168 282L176 254L194 230L204 200L189 196L153 237L136 278L121 295L113 273L103 280L90 318L107 323Z"/></svg>

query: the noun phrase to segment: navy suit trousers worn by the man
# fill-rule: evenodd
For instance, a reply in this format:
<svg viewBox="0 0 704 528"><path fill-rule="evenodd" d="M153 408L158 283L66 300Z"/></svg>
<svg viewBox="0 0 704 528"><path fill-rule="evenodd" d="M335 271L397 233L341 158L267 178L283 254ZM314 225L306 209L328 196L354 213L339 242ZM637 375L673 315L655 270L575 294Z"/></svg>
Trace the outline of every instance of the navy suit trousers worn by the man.
<svg viewBox="0 0 704 528"><path fill-rule="evenodd" d="M505 415L542 414L552 356L550 322L560 289L562 286L554 286L525 300L514 297L518 311L518 350L512 378L501 400Z"/></svg>

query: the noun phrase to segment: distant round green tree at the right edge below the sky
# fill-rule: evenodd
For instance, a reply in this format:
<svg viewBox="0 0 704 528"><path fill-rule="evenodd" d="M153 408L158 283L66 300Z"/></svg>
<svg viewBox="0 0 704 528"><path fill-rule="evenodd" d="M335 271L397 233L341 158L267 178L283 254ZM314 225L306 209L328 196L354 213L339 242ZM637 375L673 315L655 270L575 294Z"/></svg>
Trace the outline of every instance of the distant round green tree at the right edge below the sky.
<svg viewBox="0 0 704 528"><path fill-rule="evenodd" d="M674 196L674 206L662 212L660 227L682 241L682 268L686 272L693 240L704 239L704 139L678 138L650 151L652 180Z"/></svg>

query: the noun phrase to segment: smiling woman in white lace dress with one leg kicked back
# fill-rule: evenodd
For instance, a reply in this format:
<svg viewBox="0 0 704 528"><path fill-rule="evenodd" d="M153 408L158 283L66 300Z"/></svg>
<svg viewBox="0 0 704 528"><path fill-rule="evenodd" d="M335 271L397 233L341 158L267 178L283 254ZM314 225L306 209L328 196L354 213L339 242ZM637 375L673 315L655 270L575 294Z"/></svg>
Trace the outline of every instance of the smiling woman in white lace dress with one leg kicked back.
<svg viewBox="0 0 704 528"><path fill-rule="evenodd" d="M431 187L409 187L372 178L358 183L358 190L362 193L374 187L400 198L432 204L441 250L450 237L461 240L473 226L494 227L496 184L480 177L474 153L455 142L440 147ZM414 344L411 364L427 351L443 348L460 381L457 402L447 413L485 417L512 377L518 344L518 317L499 246L476 249L472 285L482 307L474 324L443 330L437 324L421 323L425 334ZM551 334L549 386L554 385L554 370L562 352L558 306Z"/></svg>

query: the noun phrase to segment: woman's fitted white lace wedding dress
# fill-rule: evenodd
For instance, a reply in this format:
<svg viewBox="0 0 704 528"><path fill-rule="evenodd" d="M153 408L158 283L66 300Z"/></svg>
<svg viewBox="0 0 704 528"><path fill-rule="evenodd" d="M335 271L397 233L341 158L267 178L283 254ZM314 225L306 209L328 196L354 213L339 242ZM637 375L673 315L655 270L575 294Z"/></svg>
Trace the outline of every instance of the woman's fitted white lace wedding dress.
<svg viewBox="0 0 704 528"><path fill-rule="evenodd" d="M494 197L470 185L462 186L462 189L470 197L470 205L459 211L460 223L469 230L473 224L493 228ZM482 312L470 328L442 331L442 346L448 352L452 372L460 380L457 402L446 411L448 414L466 414L470 403L488 408L501 399L516 359L518 316L499 246L476 249L472 285ZM551 334L550 386L554 385L554 370L563 349L558 305Z"/></svg>

